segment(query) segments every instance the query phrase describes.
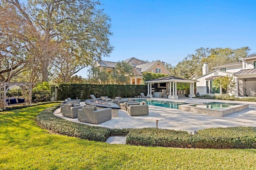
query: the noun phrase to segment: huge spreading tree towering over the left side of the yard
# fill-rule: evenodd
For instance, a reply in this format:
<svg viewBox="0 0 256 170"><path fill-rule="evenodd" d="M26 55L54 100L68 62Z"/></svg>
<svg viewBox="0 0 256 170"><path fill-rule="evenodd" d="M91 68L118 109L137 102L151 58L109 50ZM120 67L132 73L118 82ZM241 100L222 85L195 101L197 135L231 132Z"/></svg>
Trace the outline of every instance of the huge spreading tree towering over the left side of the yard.
<svg viewBox="0 0 256 170"><path fill-rule="evenodd" d="M33 42L36 44L34 47L40 51L36 59L41 64L43 82L48 82L48 68L53 61L60 63L66 60L67 55L70 58L77 55L81 62L86 61L82 65L85 67L93 59L108 57L113 49L108 39L108 36L112 35L110 18L103 13L103 10L97 9L100 5L99 1L29 0L27 4L20 4L18 0L2 0L1 5L4 4L14 9L19 18L22 18L22 23L30 28L30 35L34 36ZM14 31L22 27L22 23L17 23ZM25 33L20 34L26 37ZM65 55L62 55L63 47L66 49ZM25 49L24 46L22 48ZM81 63L76 64L81 66ZM72 73L75 74L76 71Z"/></svg>

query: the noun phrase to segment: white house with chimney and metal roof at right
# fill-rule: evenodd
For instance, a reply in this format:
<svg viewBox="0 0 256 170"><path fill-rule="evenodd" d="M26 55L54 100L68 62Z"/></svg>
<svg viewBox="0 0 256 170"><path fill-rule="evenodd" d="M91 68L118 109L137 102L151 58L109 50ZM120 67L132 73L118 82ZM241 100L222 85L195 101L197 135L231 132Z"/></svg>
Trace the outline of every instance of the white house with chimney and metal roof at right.
<svg viewBox="0 0 256 170"><path fill-rule="evenodd" d="M232 76L236 82L236 88L232 95L236 97L256 96L256 55L244 57L241 62L230 63L213 67L215 70L208 72L208 63L203 63L203 75L194 78L196 92L200 95L225 94L225 90L215 87L213 81L219 76Z"/></svg>

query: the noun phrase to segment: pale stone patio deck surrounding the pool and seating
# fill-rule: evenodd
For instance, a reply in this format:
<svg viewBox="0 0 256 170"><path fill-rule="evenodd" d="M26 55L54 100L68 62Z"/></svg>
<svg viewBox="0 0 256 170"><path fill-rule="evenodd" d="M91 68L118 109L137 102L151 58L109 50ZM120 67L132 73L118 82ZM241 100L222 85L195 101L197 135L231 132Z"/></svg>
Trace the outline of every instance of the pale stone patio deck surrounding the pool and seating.
<svg viewBox="0 0 256 170"><path fill-rule="evenodd" d="M84 123L77 118L68 118L62 116L60 108L54 111L54 115L67 119L73 122L78 122L86 125L109 127L109 128L144 128L156 127L155 120L158 119L158 128L175 129L185 131L197 131L210 127L236 127L236 126L256 126L256 102L238 102L227 100L210 100L198 98L179 98L171 100L166 98L152 98L152 100L162 100L170 102L184 102L191 104L202 104L203 102L229 102L229 103L245 103L249 104L248 109L226 115L224 117L214 117L199 113L180 111L159 106L149 106L149 115L145 116L130 116L125 110L119 110L118 117L112 117L111 120L100 123L98 125L92 123ZM84 102L81 102L84 105Z"/></svg>

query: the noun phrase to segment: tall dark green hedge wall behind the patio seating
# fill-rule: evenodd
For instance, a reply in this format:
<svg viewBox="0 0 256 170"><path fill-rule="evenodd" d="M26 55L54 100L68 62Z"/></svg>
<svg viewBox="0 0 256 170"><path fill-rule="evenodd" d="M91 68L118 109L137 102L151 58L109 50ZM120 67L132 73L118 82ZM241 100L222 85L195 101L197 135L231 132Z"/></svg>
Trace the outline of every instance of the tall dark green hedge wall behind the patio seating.
<svg viewBox="0 0 256 170"><path fill-rule="evenodd" d="M59 84L56 86L57 100L66 98L88 99L90 94L114 98L134 97L140 93L147 94L147 85L119 85L119 84Z"/></svg>

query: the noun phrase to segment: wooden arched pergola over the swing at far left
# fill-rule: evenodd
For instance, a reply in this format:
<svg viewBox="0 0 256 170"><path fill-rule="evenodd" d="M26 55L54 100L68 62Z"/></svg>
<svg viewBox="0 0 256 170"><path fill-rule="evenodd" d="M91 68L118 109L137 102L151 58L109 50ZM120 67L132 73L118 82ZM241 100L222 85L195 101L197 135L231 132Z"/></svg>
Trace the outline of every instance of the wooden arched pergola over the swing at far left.
<svg viewBox="0 0 256 170"><path fill-rule="evenodd" d="M25 88L28 88L29 90L29 97L28 97L28 103L29 106L31 106L32 102L32 85L34 83L29 82L0 82L0 103L2 103L4 106L4 109L6 109L6 92L9 90L12 86L19 86L23 91L23 98L25 97Z"/></svg>

